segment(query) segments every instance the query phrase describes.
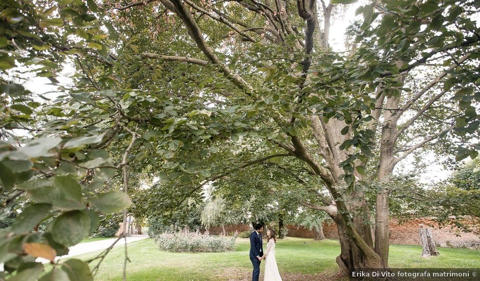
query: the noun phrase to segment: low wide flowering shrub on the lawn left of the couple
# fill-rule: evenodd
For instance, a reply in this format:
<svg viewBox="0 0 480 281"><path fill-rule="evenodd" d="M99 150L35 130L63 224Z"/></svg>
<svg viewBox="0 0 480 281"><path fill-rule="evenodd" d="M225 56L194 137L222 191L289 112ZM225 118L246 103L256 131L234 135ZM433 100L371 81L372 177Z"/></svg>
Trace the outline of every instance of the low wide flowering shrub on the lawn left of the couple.
<svg viewBox="0 0 480 281"><path fill-rule="evenodd" d="M171 252L226 252L235 248L236 237L211 236L208 231L190 231L185 228L178 232L164 232L155 237L161 250Z"/></svg>

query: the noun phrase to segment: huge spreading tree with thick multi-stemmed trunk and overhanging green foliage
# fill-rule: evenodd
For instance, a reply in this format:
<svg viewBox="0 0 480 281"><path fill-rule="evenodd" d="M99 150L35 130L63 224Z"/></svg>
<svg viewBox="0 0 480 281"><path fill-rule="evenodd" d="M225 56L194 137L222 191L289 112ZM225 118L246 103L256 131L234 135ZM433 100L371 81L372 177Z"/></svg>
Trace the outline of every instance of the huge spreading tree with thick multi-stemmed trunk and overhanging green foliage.
<svg viewBox="0 0 480 281"><path fill-rule="evenodd" d="M98 194L127 191L129 175L167 182L150 199L170 210L206 183L235 190L225 182L256 175L269 180L257 184L264 192L332 218L341 269L388 267L398 163L423 151L477 155L480 31L471 15L480 3L373 1L357 9L363 19L348 29L348 50L334 52L332 15L352 2L0 4L0 179L6 206L23 194L38 202L26 209L38 216L1 232L9 237L1 246L32 237L58 253L77 243L87 231L66 241L63 226L93 222L92 205L104 213L128 205ZM55 99L19 85L25 71L58 84L66 58L77 72ZM369 180L379 182L374 205ZM110 197L123 203L105 206ZM46 235L32 236L51 216ZM30 261L22 243L2 255L9 271L40 272L18 266Z"/></svg>

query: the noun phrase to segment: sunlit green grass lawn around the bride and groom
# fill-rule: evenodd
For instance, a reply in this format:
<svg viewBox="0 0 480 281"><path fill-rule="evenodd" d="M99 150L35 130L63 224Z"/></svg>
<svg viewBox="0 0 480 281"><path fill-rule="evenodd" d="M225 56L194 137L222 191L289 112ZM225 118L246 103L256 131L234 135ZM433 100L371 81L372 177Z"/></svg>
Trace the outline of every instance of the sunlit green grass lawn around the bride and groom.
<svg viewBox="0 0 480 281"><path fill-rule="evenodd" d="M304 243L306 242L306 244ZM252 264L248 257L248 239L238 239L233 252L225 253L171 253L160 251L152 239L128 244L127 279L158 280L229 280L249 278ZM478 268L480 251L470 249L438 248L440 256L422 258L421 247L391 245L389 264L392 268ZM335 279L338 266L335 257L340 252L338 240L314 241L302 238L279 240L276 258L284 279ZM87 260L99 252L76 256ZM122 280L125 247L112 249L103 261L95 280ZM261 271L265 263L261 265ZM308 274L305 277L302 274ZM317 274L317 275L316 275ZM313 276L312 276L313 275ZM289 278L290 276L290 278ZM308 277L310 276L310 277ZM325 278L326 277L326 278ZM250 277L251 278L251 277ZM319 278L320 279L320 278Z"/></svg>

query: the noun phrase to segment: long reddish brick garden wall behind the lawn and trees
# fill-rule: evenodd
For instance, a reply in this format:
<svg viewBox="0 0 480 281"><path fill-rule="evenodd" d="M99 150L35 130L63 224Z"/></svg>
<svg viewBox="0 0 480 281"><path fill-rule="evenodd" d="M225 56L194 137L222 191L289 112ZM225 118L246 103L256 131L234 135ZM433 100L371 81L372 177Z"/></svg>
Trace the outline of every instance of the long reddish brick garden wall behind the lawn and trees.
<svg viewBox="0 0 480 281"><path fill-rule="evenodd" d="M398 220L392 219L390 221L390 243L391 244L407 244L407 245L420 245L420 237L418 235L418 225L423 223L425 228L432 229L432 235L438 246L452 247L452 248L472 248L480 249L480 237L472 233L466 233L459 231L456 227L450 226L438 228L436 223L428 218L410 220L399 223ZM314 238L315 232L308 230L303 226L287 225L289 229L287 236L290 237L303 237ZM250 230L249 225L225 225L227 233L238 231L242 232ZM209 229L211 234L222 233L222 227L211 227ZM324 224L323 233L326 238L338 239L337 225ZM457 236L460 235L460 236Z"/></svg>

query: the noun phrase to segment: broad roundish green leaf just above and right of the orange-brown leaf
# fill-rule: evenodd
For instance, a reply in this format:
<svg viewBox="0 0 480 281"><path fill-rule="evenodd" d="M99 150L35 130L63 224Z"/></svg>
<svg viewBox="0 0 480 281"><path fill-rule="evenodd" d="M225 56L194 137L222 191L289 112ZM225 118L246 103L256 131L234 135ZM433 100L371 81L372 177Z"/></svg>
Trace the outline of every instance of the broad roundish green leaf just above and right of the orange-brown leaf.
<svg viewBox="0 0 480 281"><path fill-rule="evenodd" d="M64 246L76 245L90 234L90 218L79 210L63 213L53 222L51 233Z"/></svg>

